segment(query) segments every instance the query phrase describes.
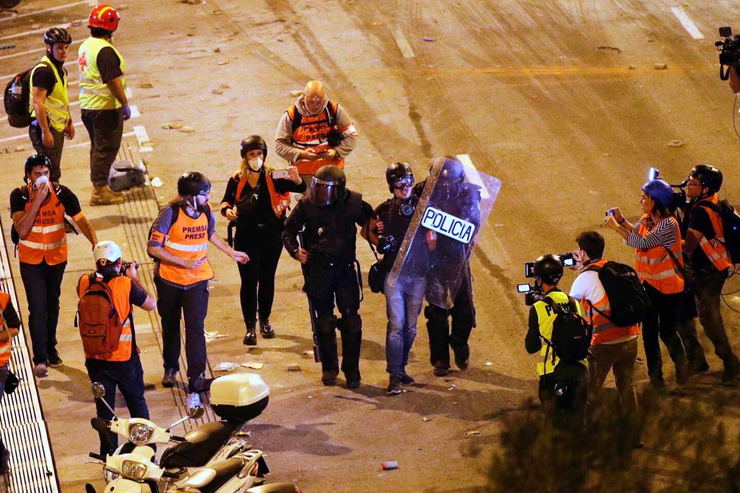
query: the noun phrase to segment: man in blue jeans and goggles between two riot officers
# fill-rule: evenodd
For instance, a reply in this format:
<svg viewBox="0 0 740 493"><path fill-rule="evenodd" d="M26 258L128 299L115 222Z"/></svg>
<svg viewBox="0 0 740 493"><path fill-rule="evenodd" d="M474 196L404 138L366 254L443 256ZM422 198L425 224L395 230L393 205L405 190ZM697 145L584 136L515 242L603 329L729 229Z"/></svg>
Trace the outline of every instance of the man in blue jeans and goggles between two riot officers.
<svg viewBox="0 0 740 493"><path fill-rule="evenodd" d="M383 271L391 271L396 260L398 249L403 241L411 216L414 215L419 198L412 193L414 173L408 163L391 163L386 169L388 190L393 197L377 206L360 234L372 245L376 245L383 259L380 262ZM408 255L423 255L426 248L419 251L412 249ZM398 279L396 285L383 285L383 294L386 295L386 313L388 314L388 329L386 331L386 371L389 374L388 395L400 394L401 384L413 385L414 378L406 374L408 352L414 345L417 333L417 319L421 313L426 288L425 272L428 262L414 258L420 266L419 276L404 276Z"/></svg>

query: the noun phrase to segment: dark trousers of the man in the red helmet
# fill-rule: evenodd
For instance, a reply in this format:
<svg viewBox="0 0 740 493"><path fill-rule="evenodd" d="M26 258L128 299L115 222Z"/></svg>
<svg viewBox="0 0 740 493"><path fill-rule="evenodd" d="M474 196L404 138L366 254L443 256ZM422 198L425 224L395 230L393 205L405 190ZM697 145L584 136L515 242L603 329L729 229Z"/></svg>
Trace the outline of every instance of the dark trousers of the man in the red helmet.
<svg viewBox="0 0 740 493"><path fill-rule="evenodd" d="M83 109L82 123L90 135L90 181L106 185L124 135L124 110Z"/></svg>

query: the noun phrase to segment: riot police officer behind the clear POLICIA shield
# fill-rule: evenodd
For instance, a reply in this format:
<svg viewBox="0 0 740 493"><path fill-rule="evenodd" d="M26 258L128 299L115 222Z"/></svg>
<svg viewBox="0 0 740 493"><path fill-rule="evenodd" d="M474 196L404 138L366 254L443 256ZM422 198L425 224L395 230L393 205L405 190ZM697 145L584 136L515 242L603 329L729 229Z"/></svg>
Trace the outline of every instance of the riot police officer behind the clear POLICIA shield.
<svg viewBox="0 0 740 493"><path fill-rule="evenodd" d="M424 180L414 187L414 192L421 195L426 185ZM445 156L442 169L437 177L434 192L429 198L429 205L443 208L445 212L472 222L480 223L480 187L465 182L465 169L460 160L454 156ZM462 282L454 296L452 307L447 310L431 303L425 307L424 316L429 333L429 359L434 366L434 375L445 376L450 368L452 347L455 364L460 370L468 368L470 348L468 338L475 327L475 307L473 305L473 288L471 285L470 262L468 259L469 244L427 231L426 243L430 255L430 270L427 279L426 299L440 299L449 296L451 288L457 281L459 273L450 272L449 266L457 262L449 259L465 259L462 269ZM436 290L436 291L435 291ZM448 322L452 316L452 328Z"/></svg>

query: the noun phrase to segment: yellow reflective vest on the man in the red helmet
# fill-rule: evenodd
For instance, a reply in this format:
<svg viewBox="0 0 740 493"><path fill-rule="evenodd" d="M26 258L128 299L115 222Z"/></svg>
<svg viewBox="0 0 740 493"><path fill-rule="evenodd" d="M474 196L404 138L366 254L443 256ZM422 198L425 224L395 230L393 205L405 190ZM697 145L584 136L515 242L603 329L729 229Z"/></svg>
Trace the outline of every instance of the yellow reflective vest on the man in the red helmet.
<svg viewBox="0 0 740 493"><path fill-rule="evenodd" d="M81 109L116 109L121 102L115 98L107 84L101 78L98 69L98 53L104 47L111 47L121 62L121 72L126 74L126 62L121 52L103 38L87 38L78 50L77 64L80 69L80 108ZM121 77L126 90L126 79Z"/></svg>

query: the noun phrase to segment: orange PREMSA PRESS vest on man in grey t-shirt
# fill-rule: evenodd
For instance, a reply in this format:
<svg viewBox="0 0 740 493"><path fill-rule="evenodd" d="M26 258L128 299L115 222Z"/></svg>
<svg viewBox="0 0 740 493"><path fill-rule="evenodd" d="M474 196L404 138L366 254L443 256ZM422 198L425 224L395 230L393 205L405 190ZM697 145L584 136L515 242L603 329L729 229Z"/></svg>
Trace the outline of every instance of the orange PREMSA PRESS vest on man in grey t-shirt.
<svg viewBox="0 0 740 493"><path fill-rule="evenodd" d="M175 207L175 205L173 205ZM178 220L169 227L164 249L170 254L181 259L202 259L206 257L208 248L208 211L202 212L197 219L192 219L184 211L178 214ZM158 275L161 279L181 286L189 286L196 282L206 281L213 278L211 262L206 259L203 264L195 269L182 268L179 265L170 264L161 260L159 262Z"/></svg>

